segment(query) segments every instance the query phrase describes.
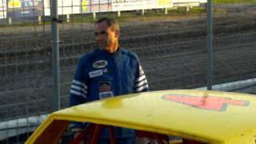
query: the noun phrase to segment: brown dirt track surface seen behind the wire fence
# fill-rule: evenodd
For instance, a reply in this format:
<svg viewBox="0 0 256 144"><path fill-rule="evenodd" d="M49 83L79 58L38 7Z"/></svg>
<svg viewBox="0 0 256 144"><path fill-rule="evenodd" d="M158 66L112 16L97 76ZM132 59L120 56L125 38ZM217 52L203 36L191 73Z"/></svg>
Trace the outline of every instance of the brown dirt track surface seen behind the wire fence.
<svg viewBox="0 0 256 144"><path fill-rule="evenodd" d="M214 5L213 11L214 84L255 78L256 6ZM139 55L150 90L206 86L206 14L134 18L121 25L121 46ZM92 26L60 25L62 107L78 59L96 46ZM50 26L0 31L1 121L49 112Z"/></svg>

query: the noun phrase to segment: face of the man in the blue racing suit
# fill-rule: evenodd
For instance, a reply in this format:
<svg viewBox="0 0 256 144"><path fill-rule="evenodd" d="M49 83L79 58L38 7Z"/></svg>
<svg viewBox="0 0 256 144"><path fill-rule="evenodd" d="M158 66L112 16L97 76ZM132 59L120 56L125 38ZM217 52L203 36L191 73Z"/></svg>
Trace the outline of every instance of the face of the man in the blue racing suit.
<svg viewBox="0 0 256 144"><path fill-rule="evenodd" d="M95 25L95 37L98 46L104 50L110 50L118 41L118 30L113 30L107 26L106 22L100 22Z"/></svg>

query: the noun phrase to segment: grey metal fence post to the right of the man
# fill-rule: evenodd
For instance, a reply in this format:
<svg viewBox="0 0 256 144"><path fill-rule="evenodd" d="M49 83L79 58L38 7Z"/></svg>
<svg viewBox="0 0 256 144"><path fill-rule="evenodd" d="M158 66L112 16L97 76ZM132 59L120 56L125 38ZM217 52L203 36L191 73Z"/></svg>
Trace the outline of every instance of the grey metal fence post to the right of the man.
<svg viewBox="0 0 256 144"><path fill-rule="evenodd" d="M213 27L212 27L212 1L207 0L207 90L213 86Z"/></svg>

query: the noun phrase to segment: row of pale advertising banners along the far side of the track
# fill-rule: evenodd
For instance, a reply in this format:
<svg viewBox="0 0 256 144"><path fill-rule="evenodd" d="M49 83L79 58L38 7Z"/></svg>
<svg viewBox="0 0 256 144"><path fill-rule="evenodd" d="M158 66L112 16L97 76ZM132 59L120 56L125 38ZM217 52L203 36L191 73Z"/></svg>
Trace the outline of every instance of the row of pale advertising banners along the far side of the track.
<svg viewBox="0 0 256 144"><path fill-rule="evenodd" d="M58 14L99 13L173 7L206 0L58 0ZM0 18L50 16L50 0L0 0Z"/></svg>

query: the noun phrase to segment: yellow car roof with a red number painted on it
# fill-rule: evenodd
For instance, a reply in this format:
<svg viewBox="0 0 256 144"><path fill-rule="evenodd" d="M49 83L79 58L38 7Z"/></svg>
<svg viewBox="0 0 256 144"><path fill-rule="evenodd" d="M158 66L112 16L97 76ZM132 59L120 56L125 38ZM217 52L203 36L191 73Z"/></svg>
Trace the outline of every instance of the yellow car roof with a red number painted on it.
<svg viewBox="0 0 256 144"><path fill-rule="evenodd" d="M253 94L208 90L127 94L54 112L28 142L38 138L54 122L63 122L62 126L67 126L68 121L78 121L170 134L207 143L255 143L255 104Z"/></svg>

